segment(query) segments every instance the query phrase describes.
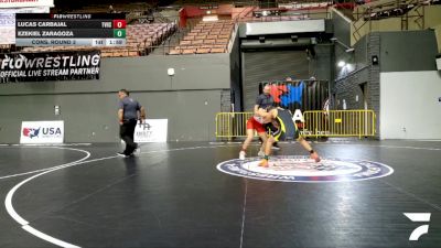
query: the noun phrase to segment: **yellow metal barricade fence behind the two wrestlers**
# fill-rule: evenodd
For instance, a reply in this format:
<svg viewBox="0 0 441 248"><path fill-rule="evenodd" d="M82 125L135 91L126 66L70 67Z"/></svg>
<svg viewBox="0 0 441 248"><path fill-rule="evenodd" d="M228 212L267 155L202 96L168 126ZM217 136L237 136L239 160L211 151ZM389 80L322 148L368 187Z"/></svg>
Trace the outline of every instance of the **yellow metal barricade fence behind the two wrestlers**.
<svg viewBox="0 0 441 248"><path fill-rule="evenodd" d="M252 112L218 112L216 138L246 137L247 120ZM299 125L303 137L374 137L376 133L373 110L314 110L303 112Z"/></svg>

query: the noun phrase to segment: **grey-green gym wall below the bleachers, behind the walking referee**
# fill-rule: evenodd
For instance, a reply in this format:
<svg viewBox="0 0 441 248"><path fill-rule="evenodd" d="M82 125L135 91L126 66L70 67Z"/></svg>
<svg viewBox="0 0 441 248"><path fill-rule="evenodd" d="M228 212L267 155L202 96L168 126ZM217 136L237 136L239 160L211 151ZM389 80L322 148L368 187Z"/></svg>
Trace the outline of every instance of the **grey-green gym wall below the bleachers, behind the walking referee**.
<svg viewBox="0 0 441 248"><path fill-rule="evenodd" d="M99 80L1 84L0 143L19 142L21 121L58 119L65 142L116 142L120 88L148 118L169 119L169 140L214 140L215 115L230 88L229 54L103 58Z"/></svg>

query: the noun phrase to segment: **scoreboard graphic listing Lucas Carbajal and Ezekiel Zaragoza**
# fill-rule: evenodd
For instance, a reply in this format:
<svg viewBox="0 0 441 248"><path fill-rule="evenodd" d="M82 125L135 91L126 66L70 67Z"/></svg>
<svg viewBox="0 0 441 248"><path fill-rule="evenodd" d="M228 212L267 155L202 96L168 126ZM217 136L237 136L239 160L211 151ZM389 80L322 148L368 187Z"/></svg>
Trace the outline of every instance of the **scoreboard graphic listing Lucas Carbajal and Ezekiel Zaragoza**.
<svg viewBox="0 0 441 248"><path fill-rule="evenodd" d="M120 13L18 13L18 46L125 46L126 15Z"/></svg>

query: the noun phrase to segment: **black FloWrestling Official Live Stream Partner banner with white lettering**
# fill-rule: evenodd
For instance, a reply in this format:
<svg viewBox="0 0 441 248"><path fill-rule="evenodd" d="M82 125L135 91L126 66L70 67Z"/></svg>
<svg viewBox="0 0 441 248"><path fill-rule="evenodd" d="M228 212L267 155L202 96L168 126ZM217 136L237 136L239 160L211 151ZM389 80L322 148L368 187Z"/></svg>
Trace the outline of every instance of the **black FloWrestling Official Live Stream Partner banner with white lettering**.
<svg viewBox="0 0 441 248"><path fill-rule="evenodd" d="M99 79L100 52L0 54L0 83Z"/></svg>

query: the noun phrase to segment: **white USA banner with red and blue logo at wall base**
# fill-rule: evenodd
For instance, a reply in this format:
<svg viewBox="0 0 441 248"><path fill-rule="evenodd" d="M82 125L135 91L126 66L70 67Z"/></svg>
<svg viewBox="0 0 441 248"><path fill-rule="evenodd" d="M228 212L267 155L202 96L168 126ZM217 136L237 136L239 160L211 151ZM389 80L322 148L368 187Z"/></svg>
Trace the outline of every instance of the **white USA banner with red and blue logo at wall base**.
<svg viewBox="0 0 441 248"><path fill-rule="evenodd" d="M64 121L22 121L20 143L63 143Z"/></svg>

